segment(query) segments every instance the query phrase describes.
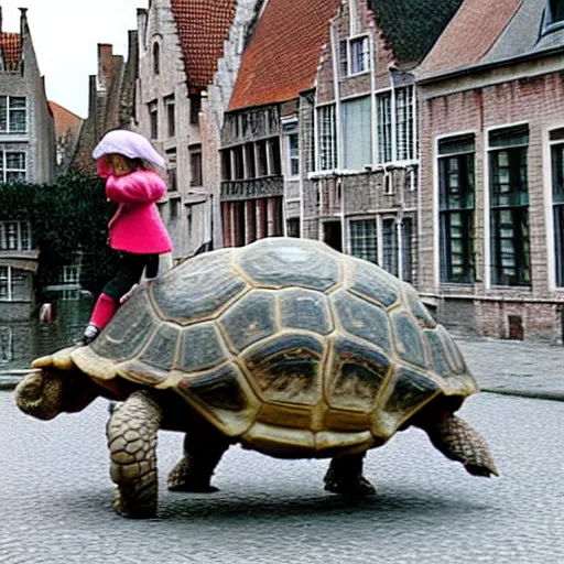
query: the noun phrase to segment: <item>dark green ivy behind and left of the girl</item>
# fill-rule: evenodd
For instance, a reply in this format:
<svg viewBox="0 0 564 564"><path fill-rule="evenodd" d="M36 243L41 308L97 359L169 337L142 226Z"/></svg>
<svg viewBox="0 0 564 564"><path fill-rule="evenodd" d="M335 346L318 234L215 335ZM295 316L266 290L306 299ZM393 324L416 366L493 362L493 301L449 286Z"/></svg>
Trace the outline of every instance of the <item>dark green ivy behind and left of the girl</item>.
<svg viewBox="0 0 564 564"><path fill-rule="evenodd" d="M97 294L116 270L117 253L106 243L115 204L104 181L68 173L56 184L0 183L0 219L28 220L40 251L39 291L57 283L62 267L83 251L80 284Z"/></svg>

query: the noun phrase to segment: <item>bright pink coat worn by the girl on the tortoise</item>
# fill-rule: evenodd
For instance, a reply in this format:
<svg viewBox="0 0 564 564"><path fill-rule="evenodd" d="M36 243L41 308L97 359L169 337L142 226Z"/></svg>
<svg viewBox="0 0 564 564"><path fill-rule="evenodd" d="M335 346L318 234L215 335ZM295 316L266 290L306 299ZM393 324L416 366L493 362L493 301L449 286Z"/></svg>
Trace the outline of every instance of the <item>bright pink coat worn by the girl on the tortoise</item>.
<svg viewBox="0 0 564 564"><path fill-rule="evenodd" d="M119 204L108 224L112 249L138 254L160 254L172 250L155 205L165 193L164 182L153 171L107 177L106 196Z"/></svg>

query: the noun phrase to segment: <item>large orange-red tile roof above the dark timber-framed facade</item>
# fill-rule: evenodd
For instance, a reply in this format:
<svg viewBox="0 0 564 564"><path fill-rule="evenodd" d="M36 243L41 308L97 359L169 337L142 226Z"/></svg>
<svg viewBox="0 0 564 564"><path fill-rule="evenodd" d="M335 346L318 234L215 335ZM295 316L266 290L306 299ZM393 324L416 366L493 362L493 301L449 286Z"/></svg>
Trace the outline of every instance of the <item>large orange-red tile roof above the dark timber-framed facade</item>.
<svg viewBox="0 0 564 564"><path fill-rule="evenodd" d="M291 100L313 86L340 0L269 0L245 50L230 110Z"/></svg>

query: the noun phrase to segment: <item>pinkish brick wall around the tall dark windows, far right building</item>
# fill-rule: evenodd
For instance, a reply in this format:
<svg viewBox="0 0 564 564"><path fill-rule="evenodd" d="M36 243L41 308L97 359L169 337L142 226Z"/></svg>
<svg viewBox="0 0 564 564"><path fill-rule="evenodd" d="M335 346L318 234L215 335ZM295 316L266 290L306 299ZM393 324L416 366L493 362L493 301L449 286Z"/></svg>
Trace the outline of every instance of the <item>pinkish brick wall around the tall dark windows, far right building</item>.
<svg viewBox="0 0 564 564"><path fill-rule="evenodd" d="M564 58L516 64L512 67L476 73L443 83L419 86L420 159L421 159L421 290L453 300L452 294L474 295L474 314L467 323L479 334L509 338L521 324L524 338L562 339L560 303L562 291L551 291L547 271L546 194L550 195L550 152L547 130L562 127L564 113ZM543 70L545 69L545 70ZM485 185L487 173L486 143L488 129L528 123L528 187L531 257L531 288L490 288L486 285L485 264ZM436 186L434 155L440 135L473 132L476 139L476 273L471 286L441 285L437 280ZM549 184L549 185L546 185ZM453 314L452 308L440 313ZM456 313L446 324L460 324Z"/></svg>

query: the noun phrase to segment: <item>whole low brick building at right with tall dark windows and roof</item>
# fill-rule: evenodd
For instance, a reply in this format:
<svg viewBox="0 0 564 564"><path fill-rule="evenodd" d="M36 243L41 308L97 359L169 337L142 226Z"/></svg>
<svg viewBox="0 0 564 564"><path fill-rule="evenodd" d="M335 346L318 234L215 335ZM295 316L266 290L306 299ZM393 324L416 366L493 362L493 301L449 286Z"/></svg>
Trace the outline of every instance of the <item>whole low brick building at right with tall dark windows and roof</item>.
<svg viewBox="0 0 564 564"><path fill-rule="evenodd" d="M564 332L564 2L466 0L417 69L419 280L438 318Z"/></svg>

